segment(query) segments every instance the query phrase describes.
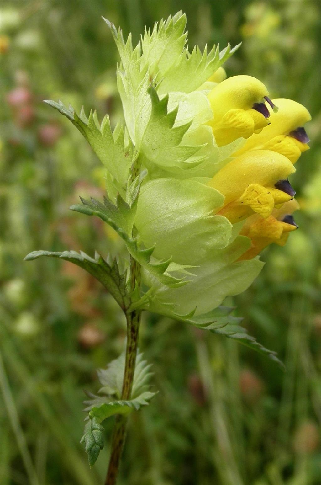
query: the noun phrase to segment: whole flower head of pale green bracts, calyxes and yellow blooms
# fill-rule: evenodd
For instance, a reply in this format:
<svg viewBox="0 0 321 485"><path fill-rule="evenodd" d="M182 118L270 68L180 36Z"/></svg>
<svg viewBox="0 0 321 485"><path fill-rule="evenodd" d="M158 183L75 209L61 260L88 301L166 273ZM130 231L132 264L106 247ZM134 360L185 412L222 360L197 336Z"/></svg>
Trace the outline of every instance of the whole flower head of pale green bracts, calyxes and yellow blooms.
<svg viewBox="0 0 321 485"><path fill-rule="evenodd" d="M80 210L110 224L142 267L137 306L181 318L208 314L260 272L258 254L297 228L289 176L308 148L304 106L270 99L251 76L226 79L239 47L186 48L178 13L131 36L107 21L119 54L125 125L49 102L106 167L108 200ZM187 318L187 317L186 317Z"/></svg>

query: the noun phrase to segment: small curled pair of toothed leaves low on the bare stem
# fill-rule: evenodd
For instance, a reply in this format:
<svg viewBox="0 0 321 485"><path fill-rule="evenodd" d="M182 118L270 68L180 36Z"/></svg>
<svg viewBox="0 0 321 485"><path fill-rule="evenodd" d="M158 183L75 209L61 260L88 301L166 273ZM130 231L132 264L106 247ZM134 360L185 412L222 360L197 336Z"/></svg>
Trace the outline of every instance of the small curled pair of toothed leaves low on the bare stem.
<svg viewBox="0 0 321 485"><path fill-rule="evenodd" d="M142 406L149 404L156 392L149 390L149 379L152 373L151 366L143 359L143 354L138 352L133 379L131 398L128 400L120 399L124 370L125 370L125 351L108 364L106 369L99 369L98 379L102 388L99 389L100 396L87 393L91 398L85 401L88 406L88 422L85 425L84 435L81 443L85 443L85 450L88 453L90 466L96 462L100 450L104 446L103 427L101 422L115 414L128 415L132 411L138 411Z"/></svg>

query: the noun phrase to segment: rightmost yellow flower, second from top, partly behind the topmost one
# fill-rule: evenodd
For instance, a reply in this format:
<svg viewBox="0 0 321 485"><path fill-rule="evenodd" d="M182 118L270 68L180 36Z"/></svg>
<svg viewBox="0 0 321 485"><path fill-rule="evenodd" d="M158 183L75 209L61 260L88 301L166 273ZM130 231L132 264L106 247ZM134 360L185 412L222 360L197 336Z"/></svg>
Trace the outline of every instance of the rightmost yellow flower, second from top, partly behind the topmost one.
<svg viewBox="0 0 321 485"><path fill-rule="evenodd" d="M292 99L273 99L279 108L277 113L270 110L271 124L259 134L253 134L235 155L248 150L273 150L286 156L295 163L302 152L309 149L308 136L304 125L311 119L310 113L302 104Z"/></svg>

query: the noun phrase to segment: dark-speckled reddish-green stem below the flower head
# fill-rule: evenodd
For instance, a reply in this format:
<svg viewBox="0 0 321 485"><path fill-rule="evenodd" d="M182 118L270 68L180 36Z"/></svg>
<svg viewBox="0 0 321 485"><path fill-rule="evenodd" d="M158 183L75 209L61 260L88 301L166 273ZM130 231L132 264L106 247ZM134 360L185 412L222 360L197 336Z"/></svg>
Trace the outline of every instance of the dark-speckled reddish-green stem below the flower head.
<svg viewBox="0 0 321 485"><path fill-rule="evenodd" d="M135 284L140 284L140 264L135 259L130 259L131 289ZM141 320L141 310L133 310L126 314L127 320L127 344L126 360L122 396L123 400L130 399L131 389L133 386L135 363L138 346L138 332ZM109 466L106 476L105 485L115 485L119 469L119 463L126 436L127 417L122 415L116 416L115 427L112 436L112 452L109 460Z"/></svg>

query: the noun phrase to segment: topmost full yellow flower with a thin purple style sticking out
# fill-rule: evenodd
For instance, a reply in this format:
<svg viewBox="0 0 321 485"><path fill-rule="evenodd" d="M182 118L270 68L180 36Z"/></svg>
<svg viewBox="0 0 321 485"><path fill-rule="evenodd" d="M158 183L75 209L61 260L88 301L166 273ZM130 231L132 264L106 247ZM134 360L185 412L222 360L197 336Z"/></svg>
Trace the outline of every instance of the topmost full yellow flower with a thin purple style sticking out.
<svg viewBox="0 0 321 485"><path fill-rule="evenodd" d="M233 76L215 86L208 94L214 117L208 125L218 146L237 138L249 138L270 124L265 105L265 85L252 76Z"/></svg>

